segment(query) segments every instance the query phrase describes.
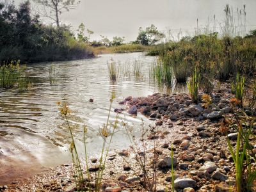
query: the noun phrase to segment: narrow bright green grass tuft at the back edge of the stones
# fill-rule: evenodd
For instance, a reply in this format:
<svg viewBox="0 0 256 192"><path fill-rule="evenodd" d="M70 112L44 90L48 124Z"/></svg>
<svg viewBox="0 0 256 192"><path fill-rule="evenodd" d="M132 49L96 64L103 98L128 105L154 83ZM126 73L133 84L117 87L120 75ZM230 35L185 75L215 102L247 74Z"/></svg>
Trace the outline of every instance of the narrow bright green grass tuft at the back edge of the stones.
<svg viewBox="0 0 256 192"><path fill-rule="evenodd" d="M200 74L198 70L195 68L195 71L193 72L191 79L189 79L189 81L187 82L191 99L195 103L198 102L199 82L200 82Z"/></svg>

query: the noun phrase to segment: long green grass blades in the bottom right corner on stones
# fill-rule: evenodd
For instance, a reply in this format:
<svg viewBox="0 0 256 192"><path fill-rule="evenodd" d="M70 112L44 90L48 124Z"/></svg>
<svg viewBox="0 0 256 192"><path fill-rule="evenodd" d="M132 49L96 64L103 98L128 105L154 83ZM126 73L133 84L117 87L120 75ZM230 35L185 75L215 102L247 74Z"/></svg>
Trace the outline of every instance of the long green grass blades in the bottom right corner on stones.
<svg viewBox="0 0 256 192"><path fill-rule="evenodd" d="M253 168L252 161L256 161L253 147L250 143L253 134L253 123L255 117L249 118L243 111L236 111L234 121L230 127L237 130L236 149L234 150L230 140L228 148L236 165L236 191L253 191L253 185L256 180L256 170Z"/></svg>

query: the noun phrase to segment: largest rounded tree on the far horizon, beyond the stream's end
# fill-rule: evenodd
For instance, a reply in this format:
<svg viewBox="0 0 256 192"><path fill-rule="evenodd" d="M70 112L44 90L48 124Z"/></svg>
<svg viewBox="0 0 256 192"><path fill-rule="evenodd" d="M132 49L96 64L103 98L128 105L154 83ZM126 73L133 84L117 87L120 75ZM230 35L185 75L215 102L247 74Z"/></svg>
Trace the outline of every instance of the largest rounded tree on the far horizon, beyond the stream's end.
<svg viewBox="0 0 256 192"><path fill-rule="evenodd" d="M153 24L143 30L141 27L139 29L139 35L137 37L137 42L142 45L153 45L159 42L162 38L164 38L164 33L158 31L156 26Z"/></svg>

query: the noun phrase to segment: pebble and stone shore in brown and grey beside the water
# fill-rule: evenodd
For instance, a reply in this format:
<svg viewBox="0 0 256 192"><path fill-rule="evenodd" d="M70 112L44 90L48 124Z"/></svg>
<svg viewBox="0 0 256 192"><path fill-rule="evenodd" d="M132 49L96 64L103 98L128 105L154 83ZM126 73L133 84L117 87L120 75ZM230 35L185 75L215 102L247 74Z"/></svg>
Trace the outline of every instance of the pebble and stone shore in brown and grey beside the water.
<svg viewBox="0 0 256 192"><path fill-rule="evenodd" d="M142 113L155 126L147 132L147 146L140 154L134 146L122 151L112 150L103 175L102 191L146 191L138 156L145 157L148 175L156 166L156 191L234 191L236 170L227 145L227 137L236 145L235 129L223 130L224 117L231 117L234 97L227 89L212 94L212 104L203 108L202 95L193 104L187 93L172 95L155 93L148 97L127 97L116 113ZM255 109L246 108L248 115ZM255 125L256 128L256 125ZM256 147L255 140L252 145ZM141 147L140 140L138 147ZM172 174L172 151L174 175ZM256 152L256 148L253 150ZM136 160L137 159L137 160ZM90 172L99 170L98 157L91 159ZM63 164L32 178L1 186L0 191L76 191L72 164Z"/></svg>

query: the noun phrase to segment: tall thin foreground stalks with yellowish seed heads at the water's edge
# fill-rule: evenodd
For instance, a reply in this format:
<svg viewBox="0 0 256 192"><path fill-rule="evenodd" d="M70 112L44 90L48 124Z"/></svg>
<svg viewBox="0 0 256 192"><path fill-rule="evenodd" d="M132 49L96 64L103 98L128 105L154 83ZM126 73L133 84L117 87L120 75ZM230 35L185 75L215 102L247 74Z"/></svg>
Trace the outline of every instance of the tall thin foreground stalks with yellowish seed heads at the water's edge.
<svg viewBox="0 0 256 192"><path fill-rule="evenodd" d="M116 115L115 122L111 123L109 120L111 106L113 103L113 99L115 99L115 95L112 94L110 99L110 106L109 106L109 113L108 113L108 120L106 124L103 124L102 127L99 129L99 134L102 137L102 149L100 152L100 159L99 159L99 170L95 174L95 185L92 186L90 182L92 182L92 177L89 172L89 162L88 162L88 151L86 148L86 138L88 134L88 128L86 125L83 126L83 141L84 141L84 153L85 153L85 170L86 176L88 177L88 182L84 182L84 175L83 175L83 166L80 161L80 157L77 153L77 147L74 140L74 135L72 132L72 127L70 126L68 115L72 113L70 108L68 107L67 102L58 102L58 106L60 106L60 113L65 117L65 121L68 125L68 130L70 131L71 136L71 143L70 143L70 152L72 154L72 162L74 168L74 174L76 175L76 188L77 191L100 191L101 184L102 184L102 175L105 170L106 166L106 159L108 157L109 148L111 142L113 140L113 135L115 134L116 128L118 126L118 116Z"/></svg>

